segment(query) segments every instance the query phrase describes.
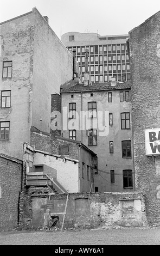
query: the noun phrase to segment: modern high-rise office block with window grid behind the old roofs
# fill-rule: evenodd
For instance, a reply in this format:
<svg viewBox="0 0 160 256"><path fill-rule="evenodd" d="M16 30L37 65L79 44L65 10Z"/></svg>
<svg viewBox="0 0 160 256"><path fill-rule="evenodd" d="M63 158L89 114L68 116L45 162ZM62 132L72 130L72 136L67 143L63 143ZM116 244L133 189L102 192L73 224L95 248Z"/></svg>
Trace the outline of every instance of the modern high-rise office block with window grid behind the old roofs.
<svg viewBox="0 0 160 256"><path fill-rule="evenodd" d="M69 51L76 51L81 80L85 74L85 48L88 48L89 82L103 83L130 80L130 59L126 40L129 35L100 36L97 33L69 32L61 41Z"/></svg>

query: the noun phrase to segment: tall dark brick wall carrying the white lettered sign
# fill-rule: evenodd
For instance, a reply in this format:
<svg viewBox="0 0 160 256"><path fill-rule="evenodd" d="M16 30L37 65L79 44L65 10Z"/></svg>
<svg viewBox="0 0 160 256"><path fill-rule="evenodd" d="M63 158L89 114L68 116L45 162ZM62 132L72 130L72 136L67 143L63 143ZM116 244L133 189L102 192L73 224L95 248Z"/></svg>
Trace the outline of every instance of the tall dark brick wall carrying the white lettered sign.
<svg viewBox="0 0 160 256"><path fill-rule="evenodd" d="M136 191L146 198L146 214L151 225L160 225L160 164L145 155L144 130L159 128L160 13L130 32L132 74L132 129Z"/></svg>

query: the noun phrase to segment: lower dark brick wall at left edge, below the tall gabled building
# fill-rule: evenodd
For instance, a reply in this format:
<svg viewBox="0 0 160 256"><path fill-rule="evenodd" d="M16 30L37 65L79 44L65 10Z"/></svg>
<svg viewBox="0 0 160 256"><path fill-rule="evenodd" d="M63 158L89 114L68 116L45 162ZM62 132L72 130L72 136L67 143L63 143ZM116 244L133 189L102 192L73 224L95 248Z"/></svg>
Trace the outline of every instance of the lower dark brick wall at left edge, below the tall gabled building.
<svg viewBox="0 0 160 256"><path fill-rule="evenodd" d="M11 230L18 222L22 187L22 161L0 154L0 231Z"/></svg>

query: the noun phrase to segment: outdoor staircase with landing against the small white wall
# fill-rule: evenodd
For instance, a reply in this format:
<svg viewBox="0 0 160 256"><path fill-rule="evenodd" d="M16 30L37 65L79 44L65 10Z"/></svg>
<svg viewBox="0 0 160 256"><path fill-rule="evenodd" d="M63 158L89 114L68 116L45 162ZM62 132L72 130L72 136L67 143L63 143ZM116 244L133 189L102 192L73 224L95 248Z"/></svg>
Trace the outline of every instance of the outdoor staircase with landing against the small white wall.
<svg viewBox="0 0 160 256"><path fill-rule="evenodd" d="M26 176L27 186L49 186L54 193L68 193L65 188L55 179L50 178L48 174L43 172L31 172Z"/></svg>

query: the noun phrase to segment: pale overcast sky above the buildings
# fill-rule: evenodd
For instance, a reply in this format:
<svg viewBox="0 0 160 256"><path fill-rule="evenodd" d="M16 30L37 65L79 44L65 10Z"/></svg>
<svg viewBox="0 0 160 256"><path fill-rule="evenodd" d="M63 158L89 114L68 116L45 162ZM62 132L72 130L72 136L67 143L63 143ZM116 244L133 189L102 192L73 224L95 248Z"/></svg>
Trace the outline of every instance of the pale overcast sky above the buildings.
<svg viewBox="0 0 160 256"><path fill-rule="evenodd" d="M36 7L57 36L67 32L128 34L160 10L160 0L0 0L0 22Z"/></svg>

